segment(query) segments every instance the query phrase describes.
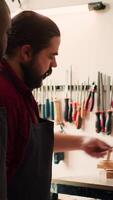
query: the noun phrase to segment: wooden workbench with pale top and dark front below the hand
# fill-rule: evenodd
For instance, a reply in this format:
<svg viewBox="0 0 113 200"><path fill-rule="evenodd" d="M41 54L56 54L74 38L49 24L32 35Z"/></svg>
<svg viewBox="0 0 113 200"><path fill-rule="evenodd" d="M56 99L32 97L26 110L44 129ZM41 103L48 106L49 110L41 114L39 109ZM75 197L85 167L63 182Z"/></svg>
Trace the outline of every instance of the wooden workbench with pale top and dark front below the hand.
<svg viewBox="0 0 113 200"><path fill-rule="evenodd" d="M113 200L113 179L102 179L97 176L53 178L51 188L52 192L57 194Z"/></svg>

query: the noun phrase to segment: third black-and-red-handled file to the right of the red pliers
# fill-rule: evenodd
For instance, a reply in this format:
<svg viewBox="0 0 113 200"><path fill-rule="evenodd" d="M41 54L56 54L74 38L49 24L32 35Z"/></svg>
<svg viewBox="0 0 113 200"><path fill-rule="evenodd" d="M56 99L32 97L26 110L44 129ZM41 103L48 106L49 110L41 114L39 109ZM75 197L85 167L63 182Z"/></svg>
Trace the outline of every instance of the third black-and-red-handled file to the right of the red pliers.
<svg viewBox="0 0 113 200"><path fill-rule="evenodd" d="M112 132L112 110L111 110L111 102L110 102L110 76L107 78L107 117L106 117L106 124L105 124L105 132L107 135L110 135Z"/></svg>

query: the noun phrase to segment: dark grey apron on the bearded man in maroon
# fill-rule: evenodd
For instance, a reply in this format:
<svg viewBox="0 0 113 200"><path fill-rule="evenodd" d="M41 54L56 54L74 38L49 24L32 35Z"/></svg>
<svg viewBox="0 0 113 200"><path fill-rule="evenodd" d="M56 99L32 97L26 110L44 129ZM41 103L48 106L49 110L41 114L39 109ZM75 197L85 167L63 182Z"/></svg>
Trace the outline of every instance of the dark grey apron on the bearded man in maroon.
<svg viewBox="0 0 113 200"><path fill-rule="evenodd" d="M8 200L49 200L53 137L53 122L30 123L25 159L7 186Z"/></svg>

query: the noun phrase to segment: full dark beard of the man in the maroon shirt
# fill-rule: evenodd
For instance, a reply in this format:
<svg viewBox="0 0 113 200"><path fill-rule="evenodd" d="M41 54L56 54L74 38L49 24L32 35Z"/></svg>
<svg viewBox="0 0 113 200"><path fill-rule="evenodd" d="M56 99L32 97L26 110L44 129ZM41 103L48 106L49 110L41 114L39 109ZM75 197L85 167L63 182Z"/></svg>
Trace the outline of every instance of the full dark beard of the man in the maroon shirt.
<svg viewBox="0 0 113 200"><path fill-rule="evenodd" d="M20 67L23 72L24 82L30 90L35 88L40 88L43 79L52 73L52 68L50 67L43 75L38 75L32 68L32 63L20 63Z"/></svg>

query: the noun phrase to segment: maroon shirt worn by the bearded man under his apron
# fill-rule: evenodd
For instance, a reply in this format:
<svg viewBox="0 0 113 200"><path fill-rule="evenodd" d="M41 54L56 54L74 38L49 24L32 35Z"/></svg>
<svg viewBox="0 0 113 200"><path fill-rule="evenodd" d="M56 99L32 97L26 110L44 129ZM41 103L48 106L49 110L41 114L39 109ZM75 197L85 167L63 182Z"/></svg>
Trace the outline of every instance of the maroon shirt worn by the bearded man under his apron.
<svg viewBox="0 0 113 200"><path fill-rule="evenodd" d="M30 120L37 124L38 107L29 88L9 64L0 62L0 107L7 113L7 178L10 181L24 159Z"/></svg>

